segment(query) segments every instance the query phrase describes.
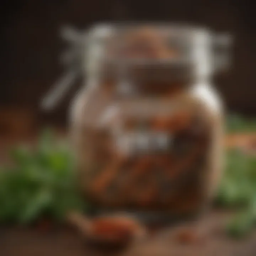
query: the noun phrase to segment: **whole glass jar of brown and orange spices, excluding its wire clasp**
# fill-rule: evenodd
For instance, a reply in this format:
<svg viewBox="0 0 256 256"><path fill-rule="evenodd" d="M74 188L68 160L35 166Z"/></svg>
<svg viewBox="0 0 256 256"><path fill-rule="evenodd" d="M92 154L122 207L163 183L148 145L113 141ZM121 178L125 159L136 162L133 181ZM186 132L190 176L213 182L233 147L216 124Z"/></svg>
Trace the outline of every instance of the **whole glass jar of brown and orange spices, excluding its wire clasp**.
<svg viewBox="0 0 256 256"><path fill-rule="evenodd" d="M223 111L210 83L225 65L213 54L220 40L148 24L96 26L83 40L71 134L86 198L102 209L200 212L222 170Z"/></svg>

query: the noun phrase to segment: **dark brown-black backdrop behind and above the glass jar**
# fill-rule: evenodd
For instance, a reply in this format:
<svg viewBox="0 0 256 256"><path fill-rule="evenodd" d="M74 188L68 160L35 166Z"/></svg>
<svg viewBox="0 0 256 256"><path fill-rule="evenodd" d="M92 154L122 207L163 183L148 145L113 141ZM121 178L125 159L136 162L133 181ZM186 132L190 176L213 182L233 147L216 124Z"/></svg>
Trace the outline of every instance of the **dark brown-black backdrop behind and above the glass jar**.
<svg viewBox="0 0 256 256"><path fill-rule="evenodd" d="M256 113L254 1L113 1L20 0L1 2L0 106L25 107L40 122L65 124L76 84L52 113L39 110L39 100L59 78L58 56L63 25L88 28L101 21L175 21L203 25L233 36L228 73L214 77L230 112Z"/></svg>

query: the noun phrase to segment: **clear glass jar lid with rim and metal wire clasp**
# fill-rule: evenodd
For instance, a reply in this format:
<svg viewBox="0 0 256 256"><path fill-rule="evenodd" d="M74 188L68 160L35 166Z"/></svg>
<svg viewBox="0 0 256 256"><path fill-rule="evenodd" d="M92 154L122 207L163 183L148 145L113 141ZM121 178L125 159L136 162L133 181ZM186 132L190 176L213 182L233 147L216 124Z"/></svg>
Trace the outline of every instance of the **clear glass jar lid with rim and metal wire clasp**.
<svg viewBox="0 0 256 256"><path fill-rule="evenodd" d="M71 47L62 55L68 71L43 98L52 109L79 75L118 75L133 80L178 80L206 76L229 64L228 35L173 24L103 24L87 32L62 30ZM217 49L219 54L213 54ZM126 72L127 71L127 72Z"/></svg>

